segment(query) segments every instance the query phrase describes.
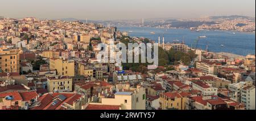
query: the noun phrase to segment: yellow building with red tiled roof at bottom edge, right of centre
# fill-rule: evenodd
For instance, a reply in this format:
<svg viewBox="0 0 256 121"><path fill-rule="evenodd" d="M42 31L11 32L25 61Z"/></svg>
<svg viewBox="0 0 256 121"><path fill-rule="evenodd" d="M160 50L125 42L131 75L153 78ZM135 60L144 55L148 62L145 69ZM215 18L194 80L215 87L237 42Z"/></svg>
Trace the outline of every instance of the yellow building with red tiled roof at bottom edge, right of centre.
<svg viewBox="0 0 256 121"><path fill-rule="evenodd" d="M160 105L162 110L175 109L175 110L186 110L186 102L190 94L188 93L177 93L167 92L160 94Z"/></svg>

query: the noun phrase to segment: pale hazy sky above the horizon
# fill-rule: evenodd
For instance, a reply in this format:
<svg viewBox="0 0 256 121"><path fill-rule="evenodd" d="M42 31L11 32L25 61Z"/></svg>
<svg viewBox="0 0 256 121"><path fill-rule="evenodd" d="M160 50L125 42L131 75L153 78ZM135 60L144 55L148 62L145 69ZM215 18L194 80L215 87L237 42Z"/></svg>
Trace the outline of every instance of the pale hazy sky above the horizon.
<svg viewBox="0 0 256 121"><path fill-rule="evenodd" d="M255 16L255 0L1 0L0 16L90 20Z"/></svg>

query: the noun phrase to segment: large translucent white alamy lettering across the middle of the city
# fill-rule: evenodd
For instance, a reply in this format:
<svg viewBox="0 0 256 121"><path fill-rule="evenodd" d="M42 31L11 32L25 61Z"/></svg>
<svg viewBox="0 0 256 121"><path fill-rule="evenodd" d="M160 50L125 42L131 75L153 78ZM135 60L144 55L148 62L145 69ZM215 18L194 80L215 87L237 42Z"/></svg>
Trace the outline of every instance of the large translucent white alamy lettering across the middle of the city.
<svg viewBox="0 0 256 121"><path fill-rule="evenodd" d="M127 49L122 42L114 44L114 40L110 39L109 44L98 44L97 49L100 50L97 54L100 63L139 63L141 55L141 63L151 63L147 66L149 70L158 68L158 44L155 43L129 43Z"/></svg>

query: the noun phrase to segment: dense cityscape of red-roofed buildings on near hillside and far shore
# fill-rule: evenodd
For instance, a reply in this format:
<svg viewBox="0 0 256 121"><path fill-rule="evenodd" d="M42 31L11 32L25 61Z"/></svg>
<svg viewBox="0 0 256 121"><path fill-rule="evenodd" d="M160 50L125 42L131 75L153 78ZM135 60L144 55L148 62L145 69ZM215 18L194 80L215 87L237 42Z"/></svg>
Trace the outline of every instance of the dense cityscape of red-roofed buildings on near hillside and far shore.
<svg viewBox="0 0 256 121"><path fill-rule="evenodd" d="M191 29L255 32L255 20ZM98 62L97 45L111 40L157 42L158 68ZM197 42L131 37L104 23L2 17L0 110L255 110L255 55L200 50Z"/></svg>

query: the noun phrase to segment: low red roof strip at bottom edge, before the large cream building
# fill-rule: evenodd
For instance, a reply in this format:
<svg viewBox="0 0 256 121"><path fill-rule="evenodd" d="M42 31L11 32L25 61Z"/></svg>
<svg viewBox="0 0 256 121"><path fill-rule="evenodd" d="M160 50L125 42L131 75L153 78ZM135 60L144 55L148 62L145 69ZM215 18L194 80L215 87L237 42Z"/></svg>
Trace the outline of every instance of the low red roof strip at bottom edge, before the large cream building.
<svg viewBox="0 0 256 121"><path fill-rule="evenodd" d="M89 104L85 110L119 110L119 105L92 105Z"/></svg>

